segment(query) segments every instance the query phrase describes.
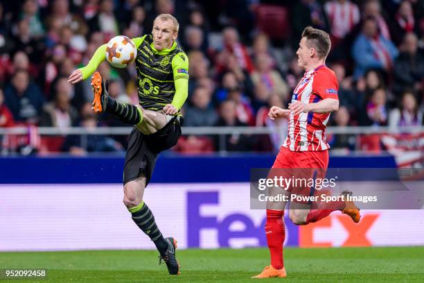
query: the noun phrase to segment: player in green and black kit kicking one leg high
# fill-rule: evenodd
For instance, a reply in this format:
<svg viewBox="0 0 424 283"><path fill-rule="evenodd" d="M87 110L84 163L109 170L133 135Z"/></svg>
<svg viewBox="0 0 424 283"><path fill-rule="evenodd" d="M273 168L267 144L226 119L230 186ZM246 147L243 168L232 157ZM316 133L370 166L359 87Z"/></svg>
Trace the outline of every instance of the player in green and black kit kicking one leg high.
<svg viewBox="0 0 424 283"><path fill-rule="evenodd" d="M159 15L153 22L152 35L133 38L137 47L136 71L139 105L118 103L109 97L100 74L91 78L95 112L109 112L134 125L125 155L123 202L132 220L154 242L159 258L164 259L170 274L179 274L175 258L177 241L164 238L154 216L143 202L157 155L177 144L181 135L179 110L188 95L188 58L175 42L179 24L169 14ZM106 44L98 47L88 65L73 71L69 83L78 83L93 74L105 60ZM160 261L159 261L160 262Z"/></svg>

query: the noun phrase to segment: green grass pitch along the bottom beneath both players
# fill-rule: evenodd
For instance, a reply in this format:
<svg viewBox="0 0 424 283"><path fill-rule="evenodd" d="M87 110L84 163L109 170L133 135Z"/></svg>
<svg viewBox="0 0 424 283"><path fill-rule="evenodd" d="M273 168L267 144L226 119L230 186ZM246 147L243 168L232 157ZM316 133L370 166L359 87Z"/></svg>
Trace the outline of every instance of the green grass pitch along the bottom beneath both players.
<svg viewBox="0 0 424 283"><path fill-rule="evenodd" d="M424 282L424 247L285 248L285 282ZM171 277L152 250L3 252L0 268L46 268L44 280L0 282L254 282L268 250L179 250Z"/></svg>

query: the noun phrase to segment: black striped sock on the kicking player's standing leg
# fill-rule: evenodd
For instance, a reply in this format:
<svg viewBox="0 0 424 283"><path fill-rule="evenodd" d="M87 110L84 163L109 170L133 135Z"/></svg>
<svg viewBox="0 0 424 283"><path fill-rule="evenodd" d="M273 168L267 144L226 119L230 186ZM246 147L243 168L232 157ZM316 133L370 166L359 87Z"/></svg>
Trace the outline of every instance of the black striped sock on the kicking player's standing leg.
<svg viewBox="0 0 424 283"><path fill-rule="evenodd" d="M128 209L131 212L132 220L137 226L153 241L154 246L161 255L164 255L168 249L168 243L162 236L161 231L157 228L156 222L154 222L154 216L150 211L149 207L141 202L136 207Z"/></svg>

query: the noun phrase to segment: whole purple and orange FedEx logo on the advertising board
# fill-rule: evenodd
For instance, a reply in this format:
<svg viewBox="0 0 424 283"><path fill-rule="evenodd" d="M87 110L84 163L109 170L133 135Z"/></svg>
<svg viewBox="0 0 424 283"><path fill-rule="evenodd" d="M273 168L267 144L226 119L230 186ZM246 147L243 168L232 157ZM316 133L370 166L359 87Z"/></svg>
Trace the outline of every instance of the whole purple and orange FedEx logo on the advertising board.
<svg viewBox="0 0 424 283"><path fill-rule="evenodd" d="M215 205L216 212L229 211L224 218L217 215L202 215L203 205ZM221 248L231 247L231 239L257 239L258 246L267 246L265 235L265 211L251 210L251 213L263 214L263 220L255 225L251 215L246 212L233 212L233 206L220 205L218 191L187 192L187 247L201 248L200 232L203 229L215 229ZM218 213L217 213L218 214ZM222 214L221 214L222 215ZM378 213L364 214L360 223L353 223L351 218L334 212L330 216L308 225L297 226L285 215L286 246L319 247L319 246L373 246L368 232L379 218ZM242 230L231 230L231 224L242 223ZM337 227L342 226L342 230ZM321 231L321 229L325 229ZM324 240L317 237L317 232L327 234Z"/></svg>

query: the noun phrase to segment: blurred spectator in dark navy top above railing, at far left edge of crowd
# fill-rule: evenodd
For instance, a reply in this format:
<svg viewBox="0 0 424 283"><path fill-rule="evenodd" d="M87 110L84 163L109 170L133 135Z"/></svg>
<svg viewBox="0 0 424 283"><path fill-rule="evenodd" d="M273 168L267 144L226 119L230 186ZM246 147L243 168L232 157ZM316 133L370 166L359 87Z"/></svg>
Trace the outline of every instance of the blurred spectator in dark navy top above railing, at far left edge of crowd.
<svg viewBox="0 0 424 283"><path fill-rule="evenodd" d="M30 82L28 71L17 70L6 87L5 103L15 121L37 124L42 113L44 97L35 83Z"/></svg>

